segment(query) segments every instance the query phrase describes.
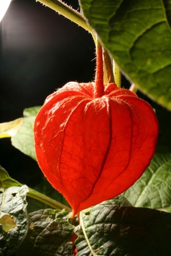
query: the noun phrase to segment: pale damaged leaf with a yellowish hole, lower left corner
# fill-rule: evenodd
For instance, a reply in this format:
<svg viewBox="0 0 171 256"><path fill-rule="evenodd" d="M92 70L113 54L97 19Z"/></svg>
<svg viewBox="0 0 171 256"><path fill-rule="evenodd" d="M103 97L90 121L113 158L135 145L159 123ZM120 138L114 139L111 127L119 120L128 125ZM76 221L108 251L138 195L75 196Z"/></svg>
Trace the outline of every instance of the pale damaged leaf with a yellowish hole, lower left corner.
<svg viewBox="0 0 171 256"><path fill-rule="evenodd" d="M0 188L0 255L17 250L28 229L26 185Z"/></svg>

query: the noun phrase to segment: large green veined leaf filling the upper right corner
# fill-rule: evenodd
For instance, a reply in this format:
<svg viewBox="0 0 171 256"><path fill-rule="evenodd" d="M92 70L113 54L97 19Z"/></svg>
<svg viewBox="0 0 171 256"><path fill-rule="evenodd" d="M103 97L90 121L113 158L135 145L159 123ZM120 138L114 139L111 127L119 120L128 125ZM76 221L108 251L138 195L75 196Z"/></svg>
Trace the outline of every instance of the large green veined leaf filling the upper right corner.
<svg viewBox="0 0 171 256"><path fill-rule="evenodd" d="M145 94L171 109L170 1L164 1L167 10L160 0L80 3L89 25L124 73Z"/></svg>

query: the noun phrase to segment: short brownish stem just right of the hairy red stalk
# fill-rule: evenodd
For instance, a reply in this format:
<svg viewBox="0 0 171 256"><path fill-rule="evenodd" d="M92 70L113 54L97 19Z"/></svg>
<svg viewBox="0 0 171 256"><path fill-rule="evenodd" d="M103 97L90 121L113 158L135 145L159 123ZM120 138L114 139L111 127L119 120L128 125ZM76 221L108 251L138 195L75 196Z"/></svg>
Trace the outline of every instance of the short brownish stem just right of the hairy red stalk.
<svg viewBox="0 0 171 256"><path fill-rule="evenodd" d="M114 83L113 67L111 62L111 57L108 52L103 49L103 59L104 59L104 83Z"/></svg>

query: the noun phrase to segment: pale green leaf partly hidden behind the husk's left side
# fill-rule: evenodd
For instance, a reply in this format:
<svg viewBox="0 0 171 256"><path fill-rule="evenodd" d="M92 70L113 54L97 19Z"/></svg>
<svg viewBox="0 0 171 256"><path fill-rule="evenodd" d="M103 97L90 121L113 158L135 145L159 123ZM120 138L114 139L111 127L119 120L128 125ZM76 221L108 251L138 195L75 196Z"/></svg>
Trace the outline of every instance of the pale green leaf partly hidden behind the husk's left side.
<svg viewBox="0 0 171 256"><path fill-rule="evenodd" d="M12 145L36 160L33 127L36 113L40 107L26 108L23 112L23 123L18 133L11 138Z"/></svg>

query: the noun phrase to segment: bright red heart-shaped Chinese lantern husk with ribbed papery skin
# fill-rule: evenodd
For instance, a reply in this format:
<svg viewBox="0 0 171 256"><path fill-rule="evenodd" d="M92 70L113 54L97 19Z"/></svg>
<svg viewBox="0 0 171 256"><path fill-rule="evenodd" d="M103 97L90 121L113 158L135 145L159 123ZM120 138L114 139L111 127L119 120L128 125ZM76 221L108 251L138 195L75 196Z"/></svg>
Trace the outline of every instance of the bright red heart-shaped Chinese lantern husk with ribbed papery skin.
<svg viewBox="0 0 171 256"><path fill-rule="evenodd" d="M96 83L67 83L35 119L38 164L72 217L127 190L156 149L158 121L146 101L115 83L100 94Z"/></svg>

